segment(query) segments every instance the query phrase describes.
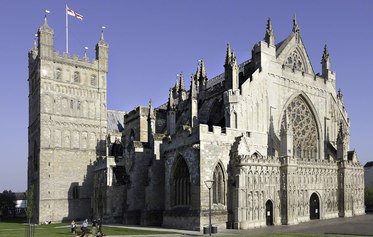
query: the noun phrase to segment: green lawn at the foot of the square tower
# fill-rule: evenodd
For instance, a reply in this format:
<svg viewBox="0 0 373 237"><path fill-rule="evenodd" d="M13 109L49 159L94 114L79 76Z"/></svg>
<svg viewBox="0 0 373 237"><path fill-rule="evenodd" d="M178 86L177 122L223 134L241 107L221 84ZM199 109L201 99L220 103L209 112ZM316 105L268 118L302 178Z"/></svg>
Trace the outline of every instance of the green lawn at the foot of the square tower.
<svg viewBox="0 0 373 237"><path fill-rule="evenodd" d="M0 237L22 237L26 236L25 231L27 226L23 223L0 222ZM154 235L154 234L174 234L168 231L150 231L150 230L136 230L120 227L106 227L102 228L105 235ZM73 236L70 233L70 225L66 223L51 224L51 225L37 225L35 227L35 237L63 237ZM88 235L86 235L88 236Z"/></svg>

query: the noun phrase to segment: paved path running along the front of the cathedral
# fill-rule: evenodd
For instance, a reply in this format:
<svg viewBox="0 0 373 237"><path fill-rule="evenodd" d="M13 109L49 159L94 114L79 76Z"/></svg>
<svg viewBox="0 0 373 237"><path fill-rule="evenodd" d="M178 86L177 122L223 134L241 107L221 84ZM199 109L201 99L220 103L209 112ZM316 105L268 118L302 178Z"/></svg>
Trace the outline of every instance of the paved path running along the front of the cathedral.
<svg viewBox="0 0 373 237"><path fill-rule="evenodd" d="M116 226L120 227L120 226ZM143 230L160 230L160 231L172 231L179 234L171 235L146 235L149 236L203 236L202 232L198 231L187 231L187 230L175 230L165 228L153 228L153 227L139 227L139 226L121 226L124 228L134 228ZM360 236L373 236L373 213L355 216L349 218L335 218L328 220L313 220L310 222L301 223L298 225L280 225L280 226L269 226L263 228L249 229L249 230L218 230L218 234L213 236L224 236L224 235L241 235L241 236L253 236L260 234L273 234L273 233L314 233L314 234L344 234L344 235L360 235ZM128 235L126 235L127 237ZM110 236L110 237L122 237L122 236ZM139 237L139 235L136 235Z"/></svg>

